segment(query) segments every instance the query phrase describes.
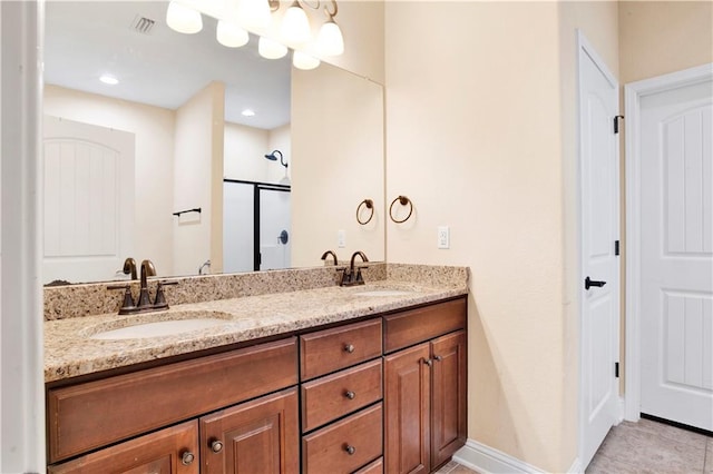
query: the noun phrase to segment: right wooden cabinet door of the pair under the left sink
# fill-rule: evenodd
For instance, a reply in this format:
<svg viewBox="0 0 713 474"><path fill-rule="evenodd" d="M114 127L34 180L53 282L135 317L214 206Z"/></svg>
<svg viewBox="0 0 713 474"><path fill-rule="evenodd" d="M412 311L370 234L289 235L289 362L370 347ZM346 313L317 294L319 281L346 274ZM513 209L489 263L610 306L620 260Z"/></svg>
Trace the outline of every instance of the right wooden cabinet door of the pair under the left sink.
<svg viewBox="0 0 713 474"><path fill-rule="evenodd" d="M299 472L297 413L297 389L290 388L202 417L202 472Z"/></svg>

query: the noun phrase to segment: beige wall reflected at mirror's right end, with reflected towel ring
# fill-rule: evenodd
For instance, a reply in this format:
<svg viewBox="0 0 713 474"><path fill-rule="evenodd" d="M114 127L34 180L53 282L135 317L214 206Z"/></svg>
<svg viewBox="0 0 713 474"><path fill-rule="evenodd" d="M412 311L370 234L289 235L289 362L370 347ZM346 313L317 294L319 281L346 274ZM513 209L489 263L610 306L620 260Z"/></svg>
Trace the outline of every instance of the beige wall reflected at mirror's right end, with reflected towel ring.
<svg viewBox="0 0 713 474"><path fill-rule="evenodd" d="M328 249L383 260L383 88L330 65L293 69L292 158L292 265L322 265ZM377 211L360 226L367 198ZM345 248L336 248L340 229Z"/></svg>

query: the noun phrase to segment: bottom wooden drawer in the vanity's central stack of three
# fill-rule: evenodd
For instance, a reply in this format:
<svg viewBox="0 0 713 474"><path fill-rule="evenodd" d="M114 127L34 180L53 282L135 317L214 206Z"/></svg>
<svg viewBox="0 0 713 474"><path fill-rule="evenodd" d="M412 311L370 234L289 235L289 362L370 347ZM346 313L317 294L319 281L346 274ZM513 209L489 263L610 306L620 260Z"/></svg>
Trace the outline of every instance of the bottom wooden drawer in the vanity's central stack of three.
<svg viewBox="0 0 713 474"><path fill-rule="evenodd" d="M382 455L382 403L302 438L309 473L352 473Z"/></svg>

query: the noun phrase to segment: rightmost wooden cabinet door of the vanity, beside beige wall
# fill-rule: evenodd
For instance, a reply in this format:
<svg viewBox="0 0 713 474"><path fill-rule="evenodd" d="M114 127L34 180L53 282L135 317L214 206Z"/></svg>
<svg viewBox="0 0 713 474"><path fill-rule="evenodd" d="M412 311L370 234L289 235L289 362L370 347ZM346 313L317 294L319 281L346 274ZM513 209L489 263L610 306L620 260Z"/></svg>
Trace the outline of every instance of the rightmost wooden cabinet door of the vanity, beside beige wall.
<svg viewBox="0 0 713 474"><path fill-rule="evenodd" d="M459 330L434 339L431 353L431 465L436 467L466 444L466 333Z"/></svg>

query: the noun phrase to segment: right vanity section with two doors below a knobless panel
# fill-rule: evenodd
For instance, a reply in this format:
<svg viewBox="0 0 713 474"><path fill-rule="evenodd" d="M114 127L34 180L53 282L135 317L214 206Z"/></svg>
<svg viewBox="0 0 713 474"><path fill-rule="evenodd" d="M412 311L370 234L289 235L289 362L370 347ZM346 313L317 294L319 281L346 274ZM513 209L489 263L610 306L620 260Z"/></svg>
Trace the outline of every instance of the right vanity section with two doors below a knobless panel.
<svg viewBox="0 0 713 474"><path fill-rule="evenodd" d="M384 317L384 463L428 473L467 437L466 300Z"/></svg>

